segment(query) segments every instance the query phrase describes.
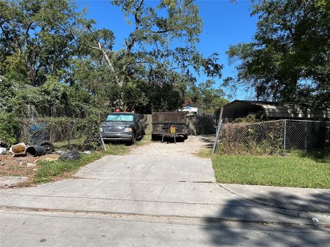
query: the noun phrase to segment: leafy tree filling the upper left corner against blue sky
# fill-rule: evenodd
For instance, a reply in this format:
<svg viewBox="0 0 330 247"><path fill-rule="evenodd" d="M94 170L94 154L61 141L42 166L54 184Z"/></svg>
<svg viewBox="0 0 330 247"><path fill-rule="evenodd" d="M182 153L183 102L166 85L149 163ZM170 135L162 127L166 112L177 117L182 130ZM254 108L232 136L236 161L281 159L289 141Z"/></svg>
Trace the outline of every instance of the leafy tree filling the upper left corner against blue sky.
<svg viewBox="0 0 330 247"><path fill-rule="evenodd" d="M13 73L32 85L61 75L75 54L67 32L81 13L72 1L0 1L0 73Z"/></svg>

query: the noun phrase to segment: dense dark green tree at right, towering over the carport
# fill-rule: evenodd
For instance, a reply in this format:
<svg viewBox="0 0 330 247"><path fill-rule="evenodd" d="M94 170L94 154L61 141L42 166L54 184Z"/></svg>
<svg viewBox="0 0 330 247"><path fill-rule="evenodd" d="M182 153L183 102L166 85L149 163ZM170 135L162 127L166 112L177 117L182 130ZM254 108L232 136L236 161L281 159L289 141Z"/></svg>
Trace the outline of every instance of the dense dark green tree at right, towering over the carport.
<svg viewBox="0 0 330 247"><path fill-rule="evenodd" d="M259 18L251 43L230 46L235 78L257 99L330 106L330 1L252 0Z"/></svg>

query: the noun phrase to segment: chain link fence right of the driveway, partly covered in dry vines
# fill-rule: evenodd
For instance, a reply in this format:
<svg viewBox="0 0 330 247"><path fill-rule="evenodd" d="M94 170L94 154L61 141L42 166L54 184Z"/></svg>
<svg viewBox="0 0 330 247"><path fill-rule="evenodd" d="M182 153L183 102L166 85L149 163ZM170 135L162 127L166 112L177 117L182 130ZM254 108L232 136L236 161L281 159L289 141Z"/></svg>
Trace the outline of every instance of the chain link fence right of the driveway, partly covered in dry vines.
<svg viewBox="0 0 330 247"><path fill-rule="evenodd" d="M276 120L223 124L218 152L281 154L285 150L312 150L329 145L330 123Z"/></svg>

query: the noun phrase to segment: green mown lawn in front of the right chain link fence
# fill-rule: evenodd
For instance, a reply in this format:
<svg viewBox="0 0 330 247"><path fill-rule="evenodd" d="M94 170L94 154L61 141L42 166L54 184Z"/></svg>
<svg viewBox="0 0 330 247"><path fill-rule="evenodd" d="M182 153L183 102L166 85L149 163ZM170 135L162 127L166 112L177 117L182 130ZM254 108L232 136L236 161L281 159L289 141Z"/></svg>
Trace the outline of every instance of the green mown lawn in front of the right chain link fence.
<svg viewBox="0 0 330 247"><path fill-rule="evenodd" d="M210 158L219 183L330 188L329 153L293 152L287 156L215 154Z"/></svg>

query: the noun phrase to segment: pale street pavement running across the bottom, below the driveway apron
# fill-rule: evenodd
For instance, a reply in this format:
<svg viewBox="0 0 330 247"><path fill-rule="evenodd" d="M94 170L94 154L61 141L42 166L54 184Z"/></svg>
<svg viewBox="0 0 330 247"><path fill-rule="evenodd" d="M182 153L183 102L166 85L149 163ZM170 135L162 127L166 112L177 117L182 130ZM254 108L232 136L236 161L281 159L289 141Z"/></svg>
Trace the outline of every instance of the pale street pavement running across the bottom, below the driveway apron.
<svg viewBox="0 0 330 247"><path fill-rule="evenodd" d="M315 227L195 218L1 211L1 246L329 246Z"/></svg>

